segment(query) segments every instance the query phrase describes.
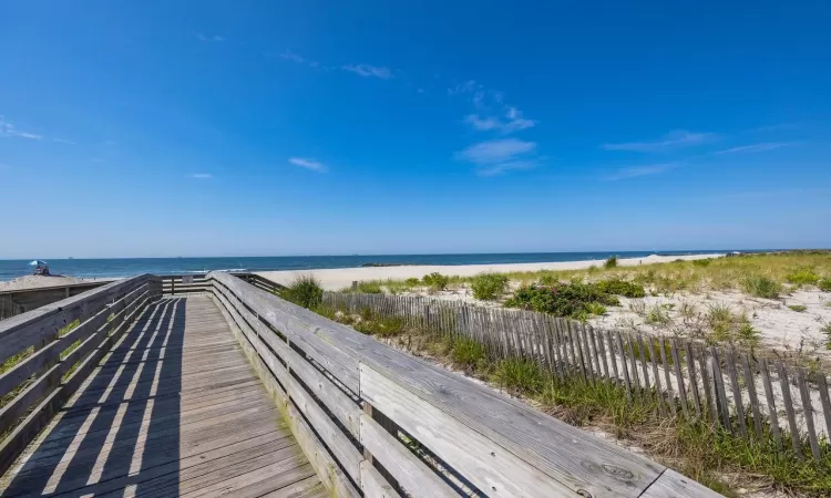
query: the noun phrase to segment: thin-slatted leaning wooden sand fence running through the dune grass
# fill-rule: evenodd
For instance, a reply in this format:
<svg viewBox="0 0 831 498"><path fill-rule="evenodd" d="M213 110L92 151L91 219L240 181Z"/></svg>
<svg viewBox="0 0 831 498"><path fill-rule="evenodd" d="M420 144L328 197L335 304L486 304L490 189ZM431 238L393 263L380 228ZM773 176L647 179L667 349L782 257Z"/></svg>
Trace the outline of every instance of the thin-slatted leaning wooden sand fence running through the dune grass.
<svg viewBox="0 0 831 498"><path fill-rule="evenodd" d="M532 311L337 292L327 292L324 304L398 318L449 340L469 338L491 360L526 360L561 380L611 378L630 398L656 400L657 415L719 423L752 442L772 437L780 450L800 458L831 454L831 402L819 370L683 338L595 330Z"/></svg>

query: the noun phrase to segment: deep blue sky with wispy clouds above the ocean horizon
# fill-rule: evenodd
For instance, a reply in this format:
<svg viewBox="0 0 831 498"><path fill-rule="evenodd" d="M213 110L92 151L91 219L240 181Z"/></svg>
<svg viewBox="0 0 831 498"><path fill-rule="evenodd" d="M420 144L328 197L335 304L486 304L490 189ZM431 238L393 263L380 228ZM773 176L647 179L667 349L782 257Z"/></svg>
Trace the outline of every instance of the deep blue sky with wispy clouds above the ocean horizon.
<svg viewBox="0 0 831 498"><path fill-rule="evenodd" d="M828 247L822 3L2 1L0 258Z"/></svg>

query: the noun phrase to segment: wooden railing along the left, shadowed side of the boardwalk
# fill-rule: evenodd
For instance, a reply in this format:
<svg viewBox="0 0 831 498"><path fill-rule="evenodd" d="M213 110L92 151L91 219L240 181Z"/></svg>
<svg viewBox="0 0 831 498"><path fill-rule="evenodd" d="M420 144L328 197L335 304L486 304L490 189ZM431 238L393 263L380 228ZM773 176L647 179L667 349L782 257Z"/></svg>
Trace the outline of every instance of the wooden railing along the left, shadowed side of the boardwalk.
<svg viewBox="0 0 831 498"><path fill-rule="evenodd" d="M0 322L0 475L160 294L144 274Z"/></svg>

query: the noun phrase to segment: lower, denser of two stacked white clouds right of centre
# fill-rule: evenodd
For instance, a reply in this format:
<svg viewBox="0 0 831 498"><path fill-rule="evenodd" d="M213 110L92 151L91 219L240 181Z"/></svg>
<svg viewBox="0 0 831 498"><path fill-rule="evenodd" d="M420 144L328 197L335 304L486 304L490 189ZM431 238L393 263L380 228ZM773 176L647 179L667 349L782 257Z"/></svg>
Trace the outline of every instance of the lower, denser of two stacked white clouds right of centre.
<svg viewBox="0 0 831 498"><path fill-rule="evenodd" d="M475 165L482 176L500 175L510 170L537 166L536 143L516 138L480 142L455 153L458 160Z"/></svg>

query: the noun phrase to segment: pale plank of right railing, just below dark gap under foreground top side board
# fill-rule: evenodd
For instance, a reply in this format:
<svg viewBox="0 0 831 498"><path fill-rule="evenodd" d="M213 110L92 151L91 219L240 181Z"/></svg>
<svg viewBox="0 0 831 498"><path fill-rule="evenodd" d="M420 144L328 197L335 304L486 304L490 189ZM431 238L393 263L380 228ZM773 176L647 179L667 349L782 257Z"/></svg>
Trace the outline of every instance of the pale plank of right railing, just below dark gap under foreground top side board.
<svg viewBox="0 0 831 498"><path fill-rule="evenodd" d="M383 465L383 468L392 475L403 491L410 496L458 496L455 490L439 478L400 440L384 430L370 415L361 416L360 428L360 442L363 447L372 454L377 461ZM361 483L363 486L363 481Z"/></svg>

